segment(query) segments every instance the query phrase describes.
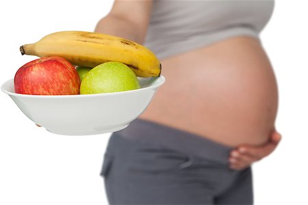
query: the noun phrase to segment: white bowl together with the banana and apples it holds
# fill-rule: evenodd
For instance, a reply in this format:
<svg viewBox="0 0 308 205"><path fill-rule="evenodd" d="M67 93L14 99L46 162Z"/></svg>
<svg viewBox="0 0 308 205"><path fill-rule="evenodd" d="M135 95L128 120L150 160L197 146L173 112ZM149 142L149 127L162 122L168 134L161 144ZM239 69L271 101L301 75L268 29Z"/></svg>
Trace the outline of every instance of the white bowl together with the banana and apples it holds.
<svg viewBox="0 0 308 205"><path fill-rule="evenodd" d="M165 81L149 49L103 33L51 33L20 50L41 59L22 66L1 90L35 124L60 135L110 133L129 126Z"/></svg>

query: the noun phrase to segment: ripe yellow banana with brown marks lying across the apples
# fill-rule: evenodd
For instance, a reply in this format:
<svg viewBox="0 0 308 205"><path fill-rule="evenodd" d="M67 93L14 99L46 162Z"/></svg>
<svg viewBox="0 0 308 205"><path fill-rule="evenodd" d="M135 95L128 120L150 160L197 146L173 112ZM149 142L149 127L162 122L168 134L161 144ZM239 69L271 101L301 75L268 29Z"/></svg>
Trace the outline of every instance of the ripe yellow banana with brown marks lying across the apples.
<svg viewBox="0 0 308 205"><path fill-rule="evenodd" d="M86 31L60 31L34 44L20 47L22 55L60 56L75 66L93 68L106 61L126 64L138 77L158 77L159 59L145 46L131 40Z"/></svg>

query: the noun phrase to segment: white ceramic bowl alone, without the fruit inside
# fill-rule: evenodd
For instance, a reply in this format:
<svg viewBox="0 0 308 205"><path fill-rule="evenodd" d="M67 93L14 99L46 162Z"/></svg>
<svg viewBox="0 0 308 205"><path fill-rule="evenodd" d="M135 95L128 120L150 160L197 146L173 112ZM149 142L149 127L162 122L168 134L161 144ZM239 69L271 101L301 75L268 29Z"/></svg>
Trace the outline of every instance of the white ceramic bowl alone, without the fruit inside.
<svg viewBox="0 0 308 205"><path fill-rule="evenodd" d="M141 88L106 94L40 96L16 94L14 79L1 90L27 117L60 135L95 135L119 131L138 118L151 102L164 77L138 78Z"/></svg>

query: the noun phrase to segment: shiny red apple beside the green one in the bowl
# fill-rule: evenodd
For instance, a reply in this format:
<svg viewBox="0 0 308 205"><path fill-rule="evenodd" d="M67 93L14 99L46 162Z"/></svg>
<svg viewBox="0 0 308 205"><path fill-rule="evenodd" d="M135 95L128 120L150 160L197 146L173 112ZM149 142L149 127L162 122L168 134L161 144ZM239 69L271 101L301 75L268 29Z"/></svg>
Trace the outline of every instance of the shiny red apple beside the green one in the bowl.
<svg viewBox="0 0 308 205"><path fill-rule="evenodd" d="M15 92L32 95L79 94L77 70L62 57L42 57L21 66L14 78Z"/></svg>

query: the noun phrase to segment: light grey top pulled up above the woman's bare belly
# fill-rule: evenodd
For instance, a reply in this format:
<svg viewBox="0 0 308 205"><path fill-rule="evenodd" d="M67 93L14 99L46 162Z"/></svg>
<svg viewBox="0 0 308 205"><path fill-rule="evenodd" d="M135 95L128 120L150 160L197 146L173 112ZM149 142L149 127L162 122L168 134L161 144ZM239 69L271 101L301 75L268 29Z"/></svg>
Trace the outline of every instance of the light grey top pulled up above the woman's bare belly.
<svg viewBox="0 0 308 205"><path fill-rule="evenodd" d="M274 1L154 0L144 45L159 59L234 36L253 36L265 27Z"/></svg>

